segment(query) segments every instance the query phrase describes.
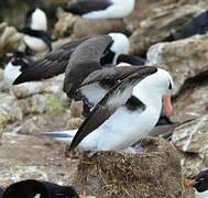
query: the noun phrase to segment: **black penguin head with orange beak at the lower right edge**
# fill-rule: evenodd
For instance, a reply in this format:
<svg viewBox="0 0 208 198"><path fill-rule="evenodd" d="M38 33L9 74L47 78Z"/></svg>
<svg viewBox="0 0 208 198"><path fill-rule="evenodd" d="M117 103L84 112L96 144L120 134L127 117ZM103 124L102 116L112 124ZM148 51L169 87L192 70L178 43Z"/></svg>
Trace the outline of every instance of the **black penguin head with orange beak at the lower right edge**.
<svg viewBox="0 0 208 198"><path fill-rule="evenodd" d="M198 193L208 190L208 169L200 172L193 180L186 179L185 184L189 188L195 188Z"/></svg>

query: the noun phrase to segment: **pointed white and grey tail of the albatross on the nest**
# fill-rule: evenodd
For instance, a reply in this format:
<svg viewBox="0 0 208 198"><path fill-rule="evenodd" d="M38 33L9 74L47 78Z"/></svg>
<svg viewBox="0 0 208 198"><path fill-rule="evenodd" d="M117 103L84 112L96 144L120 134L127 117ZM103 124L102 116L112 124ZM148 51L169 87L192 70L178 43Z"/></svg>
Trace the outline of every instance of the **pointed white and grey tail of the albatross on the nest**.
<svg viewBox="0 0 208 198"><path fill-rule="evenodd" d="M52 131L52 132L44 132L42 133L45 136L53 138L56 141L64 142L66 144L72 143L77 130L70 131Z"/></svg>

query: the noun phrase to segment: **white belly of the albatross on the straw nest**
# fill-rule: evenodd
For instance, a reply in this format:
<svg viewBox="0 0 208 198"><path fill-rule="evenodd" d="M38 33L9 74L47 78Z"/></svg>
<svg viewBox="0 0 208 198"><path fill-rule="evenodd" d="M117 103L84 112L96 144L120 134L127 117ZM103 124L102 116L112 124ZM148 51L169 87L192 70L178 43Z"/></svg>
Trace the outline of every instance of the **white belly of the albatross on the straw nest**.
<svg viewBox="0 0 208 198"><path fill-rule="evenodd" d="M102 125L84 139L84 150L127 148L144 138L154 128L158 117L160 111L155 108L141 112L141 110L130 111L125 107L120 107Z"/></svg>

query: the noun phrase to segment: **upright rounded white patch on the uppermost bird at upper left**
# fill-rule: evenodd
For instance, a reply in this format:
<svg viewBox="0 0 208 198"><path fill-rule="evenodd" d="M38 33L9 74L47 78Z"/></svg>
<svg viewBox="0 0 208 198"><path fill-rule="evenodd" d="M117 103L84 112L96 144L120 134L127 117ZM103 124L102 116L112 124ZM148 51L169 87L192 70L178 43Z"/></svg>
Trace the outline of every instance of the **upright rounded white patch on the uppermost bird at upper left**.
<svg viewBox="0 0 208 198"><path fill-rule="evenodd" d="M45 12L39 8L31 14L31 26L32 30L47 31L47 16Z"/></svg>

